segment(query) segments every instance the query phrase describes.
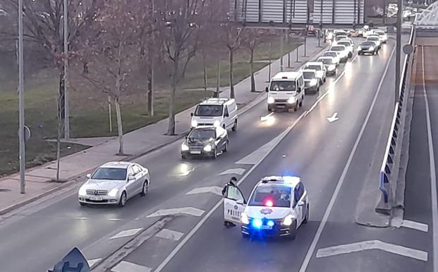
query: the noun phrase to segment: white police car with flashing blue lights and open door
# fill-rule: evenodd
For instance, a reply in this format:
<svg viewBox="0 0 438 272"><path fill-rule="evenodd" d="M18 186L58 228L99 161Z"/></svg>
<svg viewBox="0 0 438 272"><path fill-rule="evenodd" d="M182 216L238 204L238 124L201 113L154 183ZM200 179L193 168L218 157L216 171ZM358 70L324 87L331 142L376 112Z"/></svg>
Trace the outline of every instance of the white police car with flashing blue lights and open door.
<svg viewBox="0 0 438 272"><path fill-rule="evenodd" d="M224 190L224 223L240 224L243 237L289 237L308 223L309 200L299 177L264 177L249 201L241 189L227 184Z"/></svg>

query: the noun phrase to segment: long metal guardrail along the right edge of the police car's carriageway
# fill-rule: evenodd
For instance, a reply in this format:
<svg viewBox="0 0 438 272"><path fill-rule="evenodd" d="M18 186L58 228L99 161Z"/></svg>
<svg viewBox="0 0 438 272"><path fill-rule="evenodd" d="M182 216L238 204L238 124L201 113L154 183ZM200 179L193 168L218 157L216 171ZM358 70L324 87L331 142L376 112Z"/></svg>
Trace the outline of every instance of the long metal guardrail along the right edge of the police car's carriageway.
<svg viewBox="0 0 438 272"><path fill-rule="evenodd" d="M409 45L413 44L415 37L415 27L410 28ZM379 189L382 191L382 199L376 210L387 213L391 210L389 203L394 201L396 182L398 177L398 168L400 162L401 145L403 141L404 120L406 117L406 109L404 107L405 91L408 77L408 66L410 63L411 54L406 54L403 61L403 69L401 72L401 81L399 86L399 101L396 102L394 115L392 118L391 129L387 141L387 148L384 153L382 167L379 173ZM379 203L379 204L380 204Z"/></svg>

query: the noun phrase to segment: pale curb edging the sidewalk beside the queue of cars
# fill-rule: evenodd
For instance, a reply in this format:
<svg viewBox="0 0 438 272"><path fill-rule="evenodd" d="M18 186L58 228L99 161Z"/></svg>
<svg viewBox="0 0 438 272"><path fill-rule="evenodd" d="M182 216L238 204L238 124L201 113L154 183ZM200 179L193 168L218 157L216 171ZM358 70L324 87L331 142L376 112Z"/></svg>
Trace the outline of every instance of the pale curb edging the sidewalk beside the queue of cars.
<svg viewBox="0 0 438 272"><path fill-rule="evenodd" d="M312 54L312 56L309 57L309 61L311 59L314 59L318 54L320 54L327 47L329 47L329 45L322 45L322 47L319 50L317 50L317 52L315 52L314 54ZM285 54L283 57L285 57L285 56L287 56L287 54ZM304 63L300 66L300 68L303 67L305 62L308 62L308 61L304 61ZM264 68L266 68L266 66L264 66L262 69L264 69ZM300 69L300 68L298 68L298 69ZM260 69L259 71L261 71L262 69ZM243 81L245 81L246 79L247 78L244 78ZM264 96L266 96L266 93L264 93L264 92L259 93L258 95L256 95L252 100L248 101L245 105L243 105L243 107L238 109L238 114L244 114L245 112L248 112L248 110L251 110L253 107L255 107L255 105L259 104L260 102L262 102L262 100L264 100ZM183 133L178 134L176 137L170 139L169 141L161 143L158 146L154 146L153 148L147 149L147 150L142 151L142 152L140 152L138 154L129 155L129 156L127 156L125 158L122 158L121 160L118 160L118 161L129 161L129 160L135 160L137 158L140 158L140 157L142 157L144 155L147 155L149 153L157 151L157 150L159 150L161 148L164 148L165 146L169 146L170 144L175 143L176 141L181 140L189 132L190 132L190 130L184 131ZM39 167L43 167L43 165L40 165ZM32 202L37 201L39 199L42 199L45 196L49 196L50 194L53 194L54 192L59 191L61 189L65 189L65 188L71 187L76 182L79 182L80 179L82 179L83 176L87 172L90 172L90 171L94 170L94 168L95 167L93 167L91 169L88 169L88 170L85 170L84 172L81 172L79 175L75 175L75 177L71 177L71 178L67 179L66 182L63 182L63 184L59 185L58 187L54 187L52 189L49 189L48 191L44 191L44 193L42 193L42 194L37 194L35 196L32 196L30 199L26 199L24 201L21 201L21 202L13 204L11 206L8 206L6 208L3 208L3 209L0 210L0 215L4 215L4 214L9 213L9 212L11 212L13 210L16 210L17 208L20 208L20 207L23 207L25 205L28 205L29 203L32 203ZM47 179L46 182L49 182L50 180L51 179Z"/></svg>

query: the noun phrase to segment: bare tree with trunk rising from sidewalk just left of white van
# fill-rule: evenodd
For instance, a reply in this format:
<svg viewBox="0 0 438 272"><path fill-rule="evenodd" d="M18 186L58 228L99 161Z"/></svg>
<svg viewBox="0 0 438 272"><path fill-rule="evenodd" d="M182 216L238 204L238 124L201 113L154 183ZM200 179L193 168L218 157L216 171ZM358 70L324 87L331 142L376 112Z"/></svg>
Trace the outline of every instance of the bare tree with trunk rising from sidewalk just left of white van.
<svg viewBox="0 0 438 272"><path fill-rule="evenodd" d="M203 22L203 0L161 0L162 24L159 25L159 39L162 56L171 79L169 100L169 127L167 135L175 134L175 93L185 69L198 47L198 37Z"/></svg>

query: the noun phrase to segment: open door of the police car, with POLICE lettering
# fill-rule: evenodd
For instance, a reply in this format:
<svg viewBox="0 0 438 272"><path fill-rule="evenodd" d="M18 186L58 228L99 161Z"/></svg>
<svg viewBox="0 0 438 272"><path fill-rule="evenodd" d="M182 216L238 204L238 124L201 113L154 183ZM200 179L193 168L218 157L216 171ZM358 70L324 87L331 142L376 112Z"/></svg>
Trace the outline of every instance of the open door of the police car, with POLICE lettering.
<svg viewBox="0 0 438 272"><path fill-rule="evenodd" d="M241 189L227 184L224 194L224 220L226 222L241 223L241 213L243 213L245 206L246 201Z"/></svg>

